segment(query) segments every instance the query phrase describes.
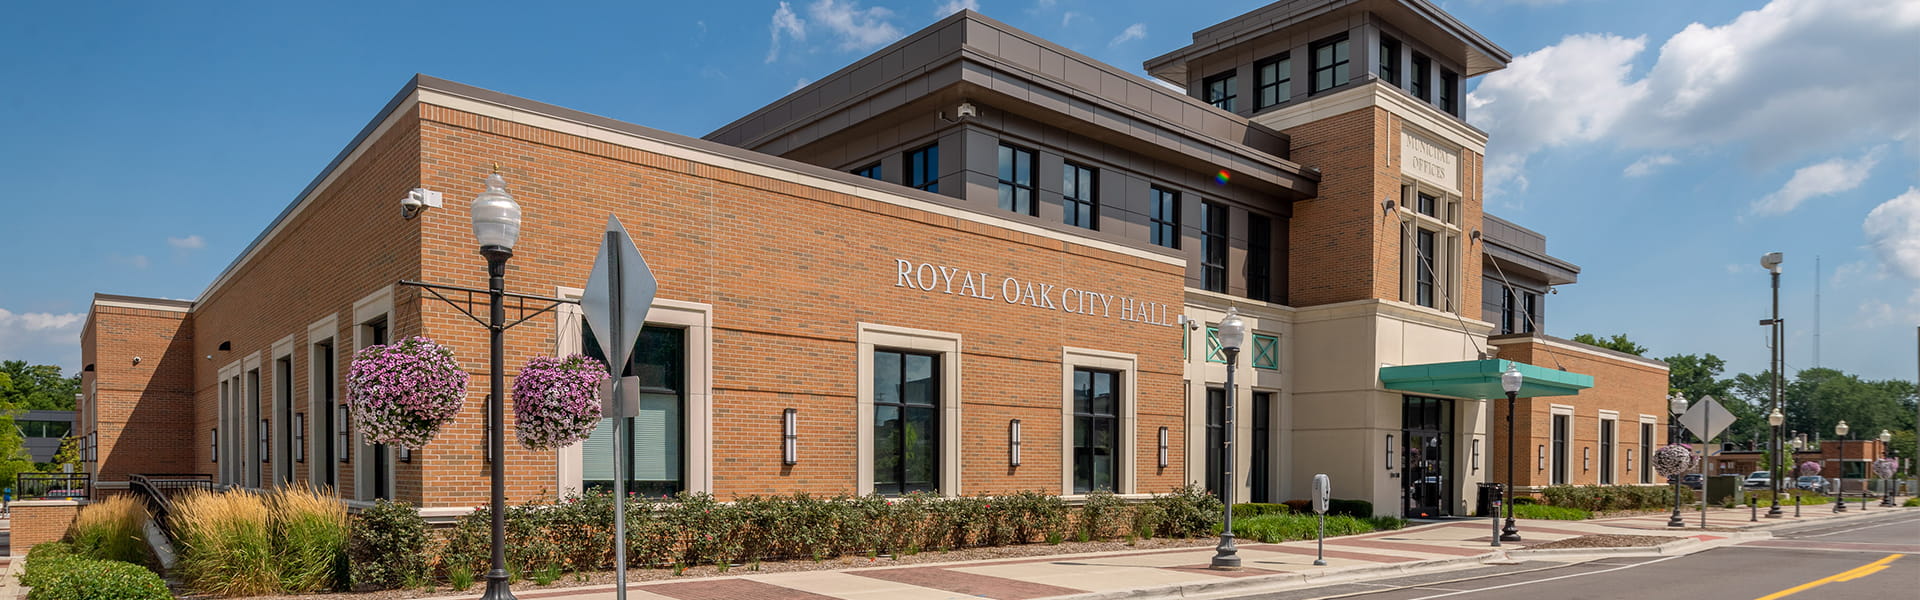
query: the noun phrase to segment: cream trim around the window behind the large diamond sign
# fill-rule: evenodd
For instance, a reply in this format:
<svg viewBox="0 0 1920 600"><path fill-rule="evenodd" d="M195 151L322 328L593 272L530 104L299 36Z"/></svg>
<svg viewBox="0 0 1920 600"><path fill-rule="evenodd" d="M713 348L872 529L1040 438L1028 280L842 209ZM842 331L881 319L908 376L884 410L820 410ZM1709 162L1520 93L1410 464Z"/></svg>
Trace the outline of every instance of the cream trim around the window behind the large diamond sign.
<svg viewBox="0 0 1920 600"><path fill-rule="evenodd" d="M584 290L574 287L557 287L555 296L559 298L580 298ZM584 352L580 348L580 304L561 304L555 310L555 356L572 356ZM653 306L647 310L647 323L653 325L672 325L685 329L687 340L687 406L685 406L685 465L684 477L687 481L689 492L712 492L712 456L714 456L714 435L712 435L712 396L714 396L714 342L712 342L712 323L714 308L712 304L684 302L684 300L664 300L655 298ZM482 442L484 448L486 442ZM574 494L584 488L582 473L586 454L582 444L572 444L557 450L555 456L555 488L564 494Z"/></svg>

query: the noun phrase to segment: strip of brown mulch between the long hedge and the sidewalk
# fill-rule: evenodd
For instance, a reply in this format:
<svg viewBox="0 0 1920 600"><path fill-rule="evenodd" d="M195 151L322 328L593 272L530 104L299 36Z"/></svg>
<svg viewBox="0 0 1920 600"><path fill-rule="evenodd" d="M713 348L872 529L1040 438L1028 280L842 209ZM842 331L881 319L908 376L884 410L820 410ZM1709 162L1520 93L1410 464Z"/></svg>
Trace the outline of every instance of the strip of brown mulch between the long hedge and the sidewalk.
<svg viewBox="0 0 1920 600"><path fill-rule="evenodd" d="M966 548L948 552L920 552L912 556L899 558L866 558L866 556L841 556L824 562L762 562L758 569L753 565L730 567L720 573L714 565L691 567L674 575L672 569L628 569L626 581L672 581L672 579L695 579L695 577L733 577L733 575L760 575L760 573L793 573L793 571L837 571L837 569L860 569L860 567L895 567L895 565L916 565L916 563L943 563L943 562L981 562L981 560L1008 560L1008 558L1033 558L1033 556L1058 556L1058 554L1092 554L1092 552L1121 552L1121 550L1167 550L1167 548L1204 548L1213 546L1217 538L1150 538L1137 540L1133 544L1125 540L1112 542L1060 542L1060 544L1020 544L1020 546L995 546L995 548ZM551 585L534 585L530 579L520 579L513 585L515 592L532 590L559 590L572 587L589 585L612 585L612 571L597 573L566 573ZM334 598L353 598L353 600L407 600L407 598L430 598L430 596L449 596L449 594L480 594L486 590L486 579L474 579L474 585L467 590L453 590L445 585L436 585L432 588L407 588L407 590L371 590L371 592L332 592L332 594L305 594L305 596L252 596L255 600L334 600ZM179 590L177 590L179 592ZM180 598L209 598L180 594Z"/></svg>

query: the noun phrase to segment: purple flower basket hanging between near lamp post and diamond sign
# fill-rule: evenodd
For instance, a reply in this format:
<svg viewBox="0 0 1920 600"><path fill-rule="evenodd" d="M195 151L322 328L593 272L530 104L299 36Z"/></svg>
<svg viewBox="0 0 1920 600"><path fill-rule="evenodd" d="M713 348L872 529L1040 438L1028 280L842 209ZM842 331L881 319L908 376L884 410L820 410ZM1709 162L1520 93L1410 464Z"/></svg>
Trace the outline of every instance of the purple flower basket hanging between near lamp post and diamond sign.
<svg viewBox="0 0 1920 600"><path fill-rule="evenodd" d="M601 419L599 387L607 377L607 363L582 354L528 360L513 379L515 437L534 450L588 438Z"/></svg>

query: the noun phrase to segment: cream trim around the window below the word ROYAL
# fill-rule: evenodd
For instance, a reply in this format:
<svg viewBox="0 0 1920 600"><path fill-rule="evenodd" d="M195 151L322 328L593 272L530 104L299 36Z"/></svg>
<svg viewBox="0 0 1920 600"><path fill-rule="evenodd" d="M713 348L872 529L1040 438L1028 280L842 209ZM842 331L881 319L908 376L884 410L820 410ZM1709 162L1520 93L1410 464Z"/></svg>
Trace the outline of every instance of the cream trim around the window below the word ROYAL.
<svg viewBox="0 0 1920 600"><path fill-rule="evenodd" d="M941 356L941 496L960 492L960 335L929 329L858 323L858 367L854 369L854 488L874 492L874 352L879 348L929 352ZM1004 456L1004 454L1002 454Z"/></svg>

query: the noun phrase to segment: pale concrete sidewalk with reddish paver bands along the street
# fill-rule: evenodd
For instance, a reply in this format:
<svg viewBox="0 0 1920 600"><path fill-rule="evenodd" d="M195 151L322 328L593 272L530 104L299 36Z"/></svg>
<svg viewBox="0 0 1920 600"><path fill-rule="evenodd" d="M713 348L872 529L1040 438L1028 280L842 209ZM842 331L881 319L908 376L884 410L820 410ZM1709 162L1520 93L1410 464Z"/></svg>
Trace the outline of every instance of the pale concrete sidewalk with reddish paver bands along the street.
<svg viewBox="0 0 1920 600"><path fill-rule="evenodd" d="M1857 506L1832 515L1826 506L1816 513L1803 508L1799 521L1855 517ZM1866 515L1885 513L1872 508ZM1738 513L1738 515L1736 515ZM1791 515L1791 510L1789 510ZM1699 513L1693 512L1695 523ZM1707 521L1718 529L1749 529L1795 519L1764 519L1747 523L1745 510L1709 510ZM1194 598L1204 594L1263 592L1298 587L1317 587L1336 581L1375 579L1405 573L1446 571L1505 560L1496 550L1517 550L1519 556L1565 560L1596 554L1688 554L1720 544L1764 538L1759 531L1667 531L1667 515L1634 515L1596 521L1532 521L1519 523L1524 542L1492 548L1488 519L1425 523L1400 531L1342 537L1327 540L1327 565L1315 567L1315 542L1261 544L1242 542L1240 571L1212 571L1212 546L1179 550L1135 550L1108 554L1044 556L1018 560L987 560L960 563L924 563L900 567L860 567L839 571L764 573L735 577L705 577L680 581L649 581L628 587L634 600L947 600L947 598ZM1667 533L1659 533L1659 531ZM1580 548L1524 550L1534 544L1582 535L1667 535L1674 542L1659 548ZM1536 556L1528 556L1536 554ZM574 588L518 587L518 598L540 600L609 600L611 585ZM472 596L472 594L463 594Z"/></svg>

